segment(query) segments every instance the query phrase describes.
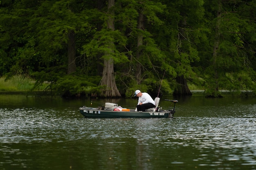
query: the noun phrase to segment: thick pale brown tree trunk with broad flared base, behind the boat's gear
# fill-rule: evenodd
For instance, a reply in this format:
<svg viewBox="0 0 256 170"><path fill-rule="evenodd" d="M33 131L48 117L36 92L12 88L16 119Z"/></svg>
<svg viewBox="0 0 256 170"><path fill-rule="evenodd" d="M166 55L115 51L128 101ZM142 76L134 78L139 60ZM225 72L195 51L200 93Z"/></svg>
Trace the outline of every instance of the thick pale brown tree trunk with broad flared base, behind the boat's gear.
<svg viewBox="0 0 256 170"><path fill-rule="evenodd" d="M112 8L114 4L115 4L115 0L108 0L108 14L110 14L110 16L107 20L107 27L112 31L115 30L114 17L113 17L115 11ZM110 41L108 44L108 47L111 49L113 46L114 46L114 43ZM106 56L108 55L110 54L106 54ZM104 59L101 85L106 86L106 90L101 92L101 96L121 97L121 94L119 93L116 82L115 82L114 62L111 56Z"/></svg>

